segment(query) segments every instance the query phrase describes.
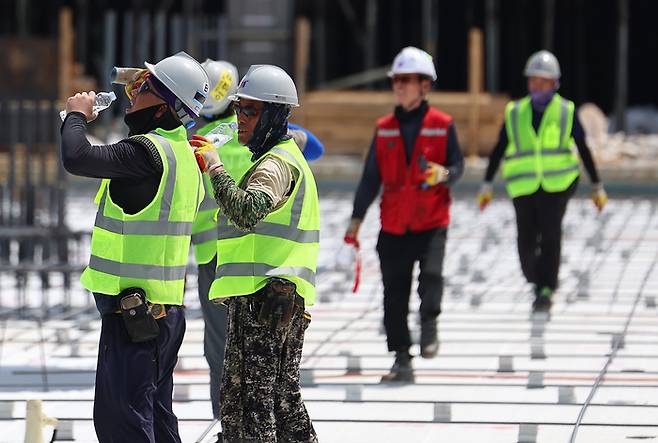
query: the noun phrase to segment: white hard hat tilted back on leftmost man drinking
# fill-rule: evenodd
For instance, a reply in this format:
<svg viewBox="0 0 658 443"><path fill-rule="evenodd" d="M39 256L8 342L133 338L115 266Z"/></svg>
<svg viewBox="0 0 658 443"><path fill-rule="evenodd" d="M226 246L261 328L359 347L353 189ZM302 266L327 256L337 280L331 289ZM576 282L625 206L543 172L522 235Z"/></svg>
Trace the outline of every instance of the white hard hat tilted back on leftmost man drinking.
<svg viewBox="0 0 658 443"><path fill-rule="evenodd" d="M198 61L181 51L155 65L144 62L144 66L189 108L195 117L199 116L208 97L210 82L208 74Z"/></svg>

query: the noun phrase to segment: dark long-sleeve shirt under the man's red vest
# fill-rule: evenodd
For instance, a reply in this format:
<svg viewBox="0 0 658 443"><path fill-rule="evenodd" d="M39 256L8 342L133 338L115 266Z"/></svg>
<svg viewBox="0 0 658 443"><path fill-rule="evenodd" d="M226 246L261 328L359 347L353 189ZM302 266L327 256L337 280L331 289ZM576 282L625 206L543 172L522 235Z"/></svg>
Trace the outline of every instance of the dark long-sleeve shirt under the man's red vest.
<svg viewBox="0 0 658 443"><path fill-rule="evenodd" d="M404 150L407 157L407 165L411 161L413 149L416 144L416 137L423 125L423 117L428 109L427 102L423 102L420 107L410 111L404 112L402 108L395 109L395 116L400 121L400 134L404 144ZM368 207L377 197L379 189L381 188L381 176L379 174L379 166L377 164L377 148L376 148L376 133L373 137L366 162L363 167L363 174L361 181L356 189L354 196L354 208L352 210L352 218L363 219L366 215ZM444 184L446 186L453 185L464 173L464 156L462 155L457 140L457 130L454 124L448 127L448 141L446 144L446 164L443 165L448 169L448 181Z"/></svg>

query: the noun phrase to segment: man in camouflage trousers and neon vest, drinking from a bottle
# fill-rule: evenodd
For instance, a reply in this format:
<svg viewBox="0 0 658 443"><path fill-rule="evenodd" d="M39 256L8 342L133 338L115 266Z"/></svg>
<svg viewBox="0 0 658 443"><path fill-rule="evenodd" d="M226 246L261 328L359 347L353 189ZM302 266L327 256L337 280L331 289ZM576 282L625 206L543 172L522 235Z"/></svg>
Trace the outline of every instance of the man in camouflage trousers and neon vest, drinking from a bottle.
<svg viewBox="0 0 658 443"><path fill-rule="evenodd" d="M254 165L236 183L220 154L195 136L199 166L219 206L210 299L228 305L221 387L225 442L315 442L301 398L306 306L315 302L320 212L313 173L288 135L299 106L290 76L251 66L232 96L238 141Z"/></svg>

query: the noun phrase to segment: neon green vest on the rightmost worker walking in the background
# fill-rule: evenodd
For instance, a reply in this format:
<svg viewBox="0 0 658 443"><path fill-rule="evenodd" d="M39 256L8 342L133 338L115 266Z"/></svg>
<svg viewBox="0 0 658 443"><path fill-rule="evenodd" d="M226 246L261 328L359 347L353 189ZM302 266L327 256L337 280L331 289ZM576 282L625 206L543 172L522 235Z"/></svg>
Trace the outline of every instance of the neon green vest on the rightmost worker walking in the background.
<svg viewBox="0 0 658 443"><path fill-rule="evenodd" d="M555 94L535 133L530 97L507 104L503 177L510 197L530 195L540 187L547 192L564 191L576 180L580 172L571 136L573 118L573 102Z"/></svg>

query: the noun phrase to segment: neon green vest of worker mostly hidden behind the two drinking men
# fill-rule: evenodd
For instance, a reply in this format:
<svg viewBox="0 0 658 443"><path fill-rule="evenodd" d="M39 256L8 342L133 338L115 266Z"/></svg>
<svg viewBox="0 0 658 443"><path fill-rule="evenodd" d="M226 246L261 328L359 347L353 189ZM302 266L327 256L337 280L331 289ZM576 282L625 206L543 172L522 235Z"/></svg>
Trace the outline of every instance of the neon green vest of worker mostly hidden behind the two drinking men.
<svg viewBox="0 0 658 443"><path fill-rule="evenodd" d="M199 129L197 134L206 135L221 123L230 123L236 121L235 114L225 119L216 120ZM222 162L226 172L236 181L240 178L253 164L251 161L251 152L247 147L238 143L237 131L233 138L218 151L221 155ZM203 174L203 185L206 190L206 198L201 202L199 213L194 219L192 225L192 245L194 246L194 257L199 265L209 263L217 255L217 223L215 222L215 213L217 212L217 203L213 195L212 184L208 174Z"/></svg>

